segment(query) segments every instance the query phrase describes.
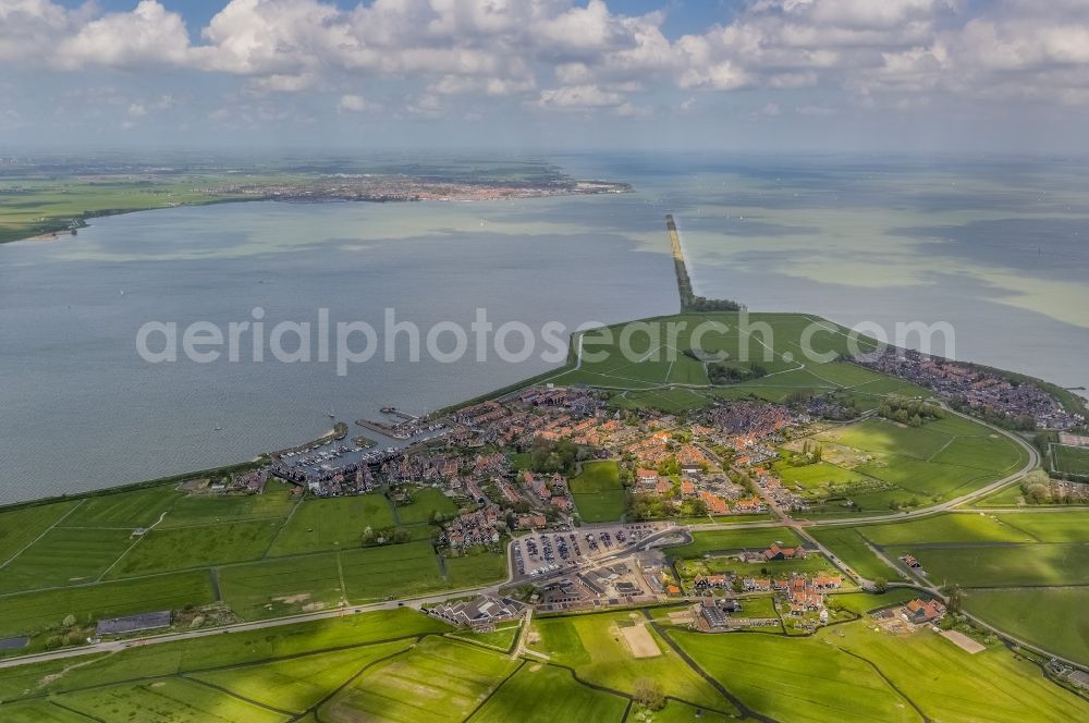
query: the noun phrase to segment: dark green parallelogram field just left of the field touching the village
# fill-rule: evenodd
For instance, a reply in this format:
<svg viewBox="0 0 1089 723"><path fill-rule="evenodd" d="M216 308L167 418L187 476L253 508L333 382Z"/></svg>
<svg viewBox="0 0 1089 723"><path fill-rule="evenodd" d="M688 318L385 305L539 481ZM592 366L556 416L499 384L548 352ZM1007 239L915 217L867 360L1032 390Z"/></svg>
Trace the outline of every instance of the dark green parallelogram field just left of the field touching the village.
<svg viewBox="0 0 1089 723"><path fill-rule="evenodd" d="M109 577L133 577L174 569L257 560L280 527L278 519L224 525L152 529L118 564Z"/></svg>

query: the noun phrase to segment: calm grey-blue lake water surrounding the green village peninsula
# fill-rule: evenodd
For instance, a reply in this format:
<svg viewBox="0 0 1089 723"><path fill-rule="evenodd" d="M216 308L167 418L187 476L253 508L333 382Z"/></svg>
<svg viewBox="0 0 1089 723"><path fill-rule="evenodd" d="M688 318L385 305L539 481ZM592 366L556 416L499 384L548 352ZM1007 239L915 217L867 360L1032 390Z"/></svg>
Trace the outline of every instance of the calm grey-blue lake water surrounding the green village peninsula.
<svg viewBox="0 0 1089 723"><path fill-rule="evenodd" d="M1064 162L571 157L622 197L242 204L98 219L0 246L0 501L248 458L384 404L424 412L548 368L149 365L146 321L573 328L676 308L663 213L697 291L844 323L951 321L956 354L1089 384L1089 173ZM121 291L124 294L121 294ZM244 347L243 358L247 358ZM403 358L403 357L402 357ZM216 430L219 426L222 429Z"/></svg>

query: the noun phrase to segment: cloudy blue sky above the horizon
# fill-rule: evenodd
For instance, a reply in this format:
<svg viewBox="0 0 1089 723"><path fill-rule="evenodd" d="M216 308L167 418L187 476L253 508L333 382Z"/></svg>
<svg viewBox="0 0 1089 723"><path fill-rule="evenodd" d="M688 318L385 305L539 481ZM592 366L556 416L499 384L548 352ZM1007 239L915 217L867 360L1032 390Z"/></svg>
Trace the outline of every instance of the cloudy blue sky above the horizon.
<svg viewBox="0 0 1089 723"><path fill-rule="evenodd" d="M1089 150L1089 0L0 0L0 147Z"/></svg>

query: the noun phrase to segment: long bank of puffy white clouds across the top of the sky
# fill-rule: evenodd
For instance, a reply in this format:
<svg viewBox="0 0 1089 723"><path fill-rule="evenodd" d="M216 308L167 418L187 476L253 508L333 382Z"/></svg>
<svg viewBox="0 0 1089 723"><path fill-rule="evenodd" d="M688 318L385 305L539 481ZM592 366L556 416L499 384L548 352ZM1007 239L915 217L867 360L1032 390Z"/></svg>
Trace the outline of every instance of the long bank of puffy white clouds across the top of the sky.
<svg viewBox="0 0 1089 723"><path fill-rule="evenodd" d="M127 12L0 0L0 61L45 72L174 68L236 76L252 99L332 93L347 111L344 99L357 97L352 89L362 81L390 84L404 98L400 110L429 118L487 117L504 98L537 111L692 111L713 106L693 100L705 93L742 90L763 94L754 107L799 114L935 99L1089 105L1084 0L747 0L730 22L680 37L663 30L664 11L619 8L604 0L231 0L191 36L182 13L157 0ZM473 97L497 100L481 106L466 100ZM150 103L131 101L129 115L139 115L137 106L150 112Z"/></svg>

